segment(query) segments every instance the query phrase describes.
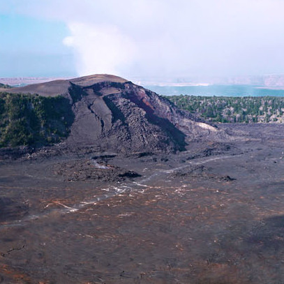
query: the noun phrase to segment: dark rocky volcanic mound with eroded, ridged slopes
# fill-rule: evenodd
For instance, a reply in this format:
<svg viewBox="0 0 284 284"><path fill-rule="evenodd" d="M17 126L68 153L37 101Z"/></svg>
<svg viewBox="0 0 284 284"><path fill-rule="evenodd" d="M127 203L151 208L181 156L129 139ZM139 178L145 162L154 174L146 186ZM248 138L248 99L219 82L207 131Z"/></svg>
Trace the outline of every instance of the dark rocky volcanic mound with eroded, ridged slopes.
<svg viewBox="0 0 284 284"><path fill-rule="evenodd" d="M69 147L91 146L121 153L174 152L186 149L190 140L225 137L167 99L113 75L57 80L11 92L68 98L75 115L66 140Z"/></svg>

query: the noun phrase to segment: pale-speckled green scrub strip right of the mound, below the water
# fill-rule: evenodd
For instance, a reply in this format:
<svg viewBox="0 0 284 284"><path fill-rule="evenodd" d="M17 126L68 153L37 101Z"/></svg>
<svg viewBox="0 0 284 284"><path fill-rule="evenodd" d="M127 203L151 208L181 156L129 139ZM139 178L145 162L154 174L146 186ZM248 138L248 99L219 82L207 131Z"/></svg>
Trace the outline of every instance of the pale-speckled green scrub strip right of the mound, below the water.
<svg viewBox="0 0 284 284"><path fill-rule="evenodd" d="M284 97L167 96L177 107L212 122L284 122Z"/></svg>

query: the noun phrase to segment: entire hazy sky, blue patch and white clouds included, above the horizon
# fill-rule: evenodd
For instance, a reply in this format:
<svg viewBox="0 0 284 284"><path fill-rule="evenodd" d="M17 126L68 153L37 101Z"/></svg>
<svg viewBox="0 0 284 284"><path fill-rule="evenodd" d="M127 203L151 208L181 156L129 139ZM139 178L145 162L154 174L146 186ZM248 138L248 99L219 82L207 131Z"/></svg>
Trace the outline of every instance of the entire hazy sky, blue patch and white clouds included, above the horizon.
<svg viewBox="0 0 284 284"><path fill-rule="evenodd" d="M284 0L1 0L0 77L284 73Z"/></svg>

